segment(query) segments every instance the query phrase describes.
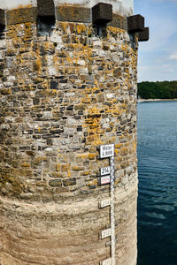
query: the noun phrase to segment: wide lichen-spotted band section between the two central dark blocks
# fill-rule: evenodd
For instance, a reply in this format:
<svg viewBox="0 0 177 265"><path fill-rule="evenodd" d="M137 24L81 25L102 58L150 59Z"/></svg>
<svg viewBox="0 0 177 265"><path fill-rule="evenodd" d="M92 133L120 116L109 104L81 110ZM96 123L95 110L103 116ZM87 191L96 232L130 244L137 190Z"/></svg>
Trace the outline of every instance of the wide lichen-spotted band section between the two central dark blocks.
<svg viewBox="0 0 177 265"><path fill-rule="evenodd" d="M89 23L90 19L90 9L84 7L76 6L58 6L57 20L58 21L69 21L69 22L83 22Z"/></svg>

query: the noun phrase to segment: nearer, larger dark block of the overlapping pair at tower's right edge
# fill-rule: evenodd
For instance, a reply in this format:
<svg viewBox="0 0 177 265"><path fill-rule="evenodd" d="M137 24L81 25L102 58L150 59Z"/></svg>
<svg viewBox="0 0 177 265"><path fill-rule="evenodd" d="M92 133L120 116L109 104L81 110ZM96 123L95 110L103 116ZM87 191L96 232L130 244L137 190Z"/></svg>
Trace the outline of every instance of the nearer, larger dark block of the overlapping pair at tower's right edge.
<svg viewBox="0 0 177 265"><path fill-rule="evenodd" d="M142 17L141 15L127 17L127 32L129 34L142 32L143 28L144 28L144 17Z"/></svg>

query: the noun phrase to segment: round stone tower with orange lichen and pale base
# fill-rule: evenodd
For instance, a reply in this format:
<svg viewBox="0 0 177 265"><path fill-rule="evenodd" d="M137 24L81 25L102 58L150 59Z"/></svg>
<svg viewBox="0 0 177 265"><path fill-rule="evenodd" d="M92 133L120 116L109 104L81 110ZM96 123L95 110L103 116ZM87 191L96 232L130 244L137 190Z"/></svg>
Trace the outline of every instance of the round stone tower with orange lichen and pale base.
<svg viewBox="0 0 177 265"><path fill-rule="evenodd" d="M1 265L135 265L142 16L133 0L0 8ZM110 161L99 147L109 144L113 221L100 177Z"/></svg>

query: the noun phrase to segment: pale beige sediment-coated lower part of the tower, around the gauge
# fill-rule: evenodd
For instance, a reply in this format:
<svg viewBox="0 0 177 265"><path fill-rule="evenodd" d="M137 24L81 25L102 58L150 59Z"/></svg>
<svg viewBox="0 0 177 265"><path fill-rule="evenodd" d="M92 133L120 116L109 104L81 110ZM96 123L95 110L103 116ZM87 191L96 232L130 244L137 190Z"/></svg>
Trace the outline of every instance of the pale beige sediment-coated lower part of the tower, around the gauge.
<svg viewBox="0 0 177 265"><path fill-rule="evenodd" d="M65 204L26 204L0 198L1 265L97 265L111 255L110 238L99 232L110 227L110 208L97 198ZM137 183L116 190L116 264L136 264Z"/></svg>

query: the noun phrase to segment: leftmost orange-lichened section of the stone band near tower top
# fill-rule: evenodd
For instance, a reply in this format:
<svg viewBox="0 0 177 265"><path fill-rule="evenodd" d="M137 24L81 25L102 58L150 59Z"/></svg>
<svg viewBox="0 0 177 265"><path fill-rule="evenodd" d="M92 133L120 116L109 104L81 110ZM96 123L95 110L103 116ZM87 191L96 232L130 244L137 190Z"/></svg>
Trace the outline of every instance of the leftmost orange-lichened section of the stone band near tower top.
<svg viewBox="0 0 177 265"><path fill-rule="evenodd" d="M7 26L35 22L37 19L37 8L20 8L6 11Z"/></svg>

